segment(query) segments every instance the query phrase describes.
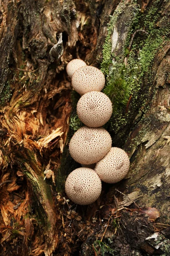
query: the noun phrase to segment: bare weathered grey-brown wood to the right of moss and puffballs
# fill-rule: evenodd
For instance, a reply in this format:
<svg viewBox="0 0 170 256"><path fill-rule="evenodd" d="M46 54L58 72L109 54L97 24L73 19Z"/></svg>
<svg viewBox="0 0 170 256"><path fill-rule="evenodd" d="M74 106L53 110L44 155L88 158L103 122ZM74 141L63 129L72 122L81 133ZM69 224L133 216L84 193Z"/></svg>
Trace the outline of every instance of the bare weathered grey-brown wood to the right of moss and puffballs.
<svg viewBox="0 0 170 256"><path fill-rule="evenodd" d="M134 126L124 145L131 158L131 172L121 187L118 186L141 207L158 207L162 221L169 219L167 209L170 207L170 147L167 137L170 134L170 114L169 82L166 78L170 67L169 49L168 42L155 57L152 67L154 82L148 91L156 88L156 93L152 99L148 99L150 109ZM120 198L120 195L116 195ZM118 204L120 207L128 206L132 201L121 198Z"/></svg>

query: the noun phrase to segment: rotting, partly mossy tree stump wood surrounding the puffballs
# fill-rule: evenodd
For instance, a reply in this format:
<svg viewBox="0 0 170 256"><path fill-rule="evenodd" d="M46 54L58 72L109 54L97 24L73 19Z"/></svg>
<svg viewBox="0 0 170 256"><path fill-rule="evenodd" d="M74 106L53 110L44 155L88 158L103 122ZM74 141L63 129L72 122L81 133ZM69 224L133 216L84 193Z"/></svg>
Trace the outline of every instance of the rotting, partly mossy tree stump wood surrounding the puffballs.
<svg viewBox="0 0 170 256"><path fill-rule="evenodd" d="M0 1L1 255L170 255L169 14L167 0ZM105 74L105 128L131 163L87 207L63 189L79 167L73 58Z"/></svg>

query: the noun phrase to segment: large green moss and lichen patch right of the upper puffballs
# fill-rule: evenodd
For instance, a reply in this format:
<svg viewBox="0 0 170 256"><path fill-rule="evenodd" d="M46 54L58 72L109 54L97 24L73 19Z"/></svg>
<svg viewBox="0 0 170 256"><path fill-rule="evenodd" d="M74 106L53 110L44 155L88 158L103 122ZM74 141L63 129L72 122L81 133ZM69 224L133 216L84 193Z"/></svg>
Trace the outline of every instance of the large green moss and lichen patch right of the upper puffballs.
<svg viewBox="0 0 170 256"><path fill-rule="evenodd" d="M132 116L130 111L136 111L139 108L142 108L142 111L147 111L144 108L147 101L147 88L153 82L153 60L164 42L169 40L169 24L167 26L161 25L165 23L165 19L164 17L160 19L161 14L158 11L159 0L154 1L153 5L147 9L147 12L142 13L137 5L133 10L134 18L129 28L123 53L116 56L111 52L111 36L119 15L122 13L121 5L111 16L108 24L108 35L102 51L101 70L106 77L106 85L103 92L109 96L113 103L113 115L107 124L107 128L115 133L129 122L130 116ZM158 20L159 26L156 26ZM145 32L142 31L143 28L145 28ZM136 32L137 30L139 31ZM135 32L136 35L129 49L130 40ZM125 66L124 60L126 58L127 65ZM148 83L145 84L146 88L143 88L145 78L147 78ZM128 110L127 104L130 98L131 108ZM122 133L121 136L124 136L124 134Z"/></svg>

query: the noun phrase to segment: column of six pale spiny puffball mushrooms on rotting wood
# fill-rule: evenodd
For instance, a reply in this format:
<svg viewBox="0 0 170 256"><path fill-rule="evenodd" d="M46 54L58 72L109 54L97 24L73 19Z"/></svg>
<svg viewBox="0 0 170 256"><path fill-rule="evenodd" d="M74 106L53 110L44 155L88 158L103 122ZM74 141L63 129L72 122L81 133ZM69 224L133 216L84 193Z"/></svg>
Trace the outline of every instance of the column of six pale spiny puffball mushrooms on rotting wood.
<svg viewBox="0 0 170 256"><path fill-rule="evenodd" d="M99 198L101 180L106 183L122 180L130 161L124 150L111 147L111 136L102 128L113 110L111 100L101 92L105 86L103 73L80 59L70 61L66 71L72 87L81 95L77 115L85 126L75 132L69 144L71 157L82 167L68 175L65 192L74 203L86 205Z"/></svg>

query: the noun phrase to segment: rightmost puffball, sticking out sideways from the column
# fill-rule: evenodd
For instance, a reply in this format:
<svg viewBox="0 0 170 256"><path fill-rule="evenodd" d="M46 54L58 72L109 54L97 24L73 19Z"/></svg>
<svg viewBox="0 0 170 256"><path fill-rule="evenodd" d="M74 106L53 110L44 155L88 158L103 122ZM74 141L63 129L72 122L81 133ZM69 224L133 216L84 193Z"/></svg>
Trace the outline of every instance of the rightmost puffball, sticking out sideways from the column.
<svg viewBox="0 0 170 256"><path fill-rule="evenodd" d="M129 171L130 161L126 152L121 148L111 148L109 153L98 163L95 171L106 183L116 183L122 180Z"/></svg>

